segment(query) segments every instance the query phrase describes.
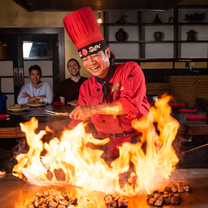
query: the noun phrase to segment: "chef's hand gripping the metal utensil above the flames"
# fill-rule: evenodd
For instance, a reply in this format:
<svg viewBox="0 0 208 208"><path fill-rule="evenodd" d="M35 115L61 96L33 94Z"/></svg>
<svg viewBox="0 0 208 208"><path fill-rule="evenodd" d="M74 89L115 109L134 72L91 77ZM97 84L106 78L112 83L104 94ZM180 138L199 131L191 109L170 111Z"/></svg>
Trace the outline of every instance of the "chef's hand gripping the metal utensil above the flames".
<svg viewBox="0 0 208 208"><path fill-rule="evenodd" d="M70 114L69 117L74 120L86 120L93 115L93 108L89 105L79 105Z"/></svg>

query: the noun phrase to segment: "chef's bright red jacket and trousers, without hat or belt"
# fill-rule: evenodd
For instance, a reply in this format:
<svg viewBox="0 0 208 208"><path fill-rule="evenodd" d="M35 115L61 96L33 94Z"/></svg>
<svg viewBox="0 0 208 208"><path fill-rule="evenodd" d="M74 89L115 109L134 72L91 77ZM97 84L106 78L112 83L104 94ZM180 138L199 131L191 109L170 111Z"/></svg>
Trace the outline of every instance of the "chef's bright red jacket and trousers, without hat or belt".
<svg viewBox="0 0 208 208"><path fill-rule="evenodd" d="M135 131L123 137L113 137L110 134L131 132L133 130L132 120L139 119L143 115L147 116L150 106L146 97L145 77L137 63L117 64L116 71L109 83L112 84L109 88L108 103L120 103L127 114L119 116L96 114L90 119L102 138L111 139L108 144L108 148L111 149L108 156L112 157L118 154L117 146L121 146L124 142L130 142L131 137L139 132ZM92 76L81 85L76 106L105 104L106 101L102 102L102 99L102 84ZM76 126L80 122L80 120L72 119L68 127Z"/></svg>

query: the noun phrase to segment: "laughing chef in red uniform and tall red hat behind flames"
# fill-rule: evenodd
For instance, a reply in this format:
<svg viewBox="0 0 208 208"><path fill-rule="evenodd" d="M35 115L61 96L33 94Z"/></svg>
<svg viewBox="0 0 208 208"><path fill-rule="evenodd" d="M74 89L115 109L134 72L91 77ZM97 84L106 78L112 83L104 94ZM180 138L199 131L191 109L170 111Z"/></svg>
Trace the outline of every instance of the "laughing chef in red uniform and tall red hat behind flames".
<svg viewBox="0 0 208 208"><path fill-rule="evenodd" d="M83 82L76 108L70 113L69 128L81 121L94 124L102 138L110 138L106 160L119 156L117 147L138 141L141 132L132 127L134 119L147 116L145 77L135 62L115 64L90 7L63 19L83 66L93 76Z"/></svg>

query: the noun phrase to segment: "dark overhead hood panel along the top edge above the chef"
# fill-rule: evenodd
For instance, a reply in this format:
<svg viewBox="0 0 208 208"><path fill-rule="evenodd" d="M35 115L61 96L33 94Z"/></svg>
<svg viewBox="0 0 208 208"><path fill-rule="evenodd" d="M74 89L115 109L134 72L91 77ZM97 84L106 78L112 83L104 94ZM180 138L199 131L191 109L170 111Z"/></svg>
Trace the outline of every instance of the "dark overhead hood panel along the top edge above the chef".
<svg viewBox="0 0 208 208"><path fill-rule="evenodd" d="M19 6L33 11L74 11L91 7L93 11L169 10L182 0L13 0Z"/></svg>

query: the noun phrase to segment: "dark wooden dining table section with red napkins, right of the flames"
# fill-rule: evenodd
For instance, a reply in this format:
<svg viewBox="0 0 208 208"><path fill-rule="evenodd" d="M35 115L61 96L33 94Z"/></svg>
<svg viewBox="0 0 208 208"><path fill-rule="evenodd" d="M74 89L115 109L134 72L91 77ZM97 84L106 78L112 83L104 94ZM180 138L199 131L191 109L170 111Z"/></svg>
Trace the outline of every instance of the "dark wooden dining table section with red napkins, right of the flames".
<svg viewBox="0 0 208 208"><path fill-rule="evenodd" d="M183 107L171 106L171 116L180 124L178 134L208 135L208 123L205 118L207 112L189 103L184 104L185 106ZM185 112L180 111L180 109L186 109L187 111L190 110L195 112ZM196 116L198 117L197 119L195 119ZM187 117L189 117L189 119ZM192 117L193 119L191 119Z"/></svg>

